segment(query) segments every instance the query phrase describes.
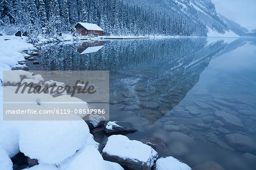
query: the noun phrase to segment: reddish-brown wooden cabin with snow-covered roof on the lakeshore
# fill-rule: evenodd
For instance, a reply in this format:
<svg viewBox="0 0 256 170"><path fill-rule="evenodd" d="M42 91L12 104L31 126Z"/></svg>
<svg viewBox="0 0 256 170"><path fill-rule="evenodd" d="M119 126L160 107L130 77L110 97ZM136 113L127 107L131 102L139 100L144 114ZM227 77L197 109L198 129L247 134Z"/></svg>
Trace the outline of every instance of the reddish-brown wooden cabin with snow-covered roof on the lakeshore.
<svg viewBox="0 0 256 170"><path fill-rule="evenodd" d="M88 35L94 35L98 34L99 36L103 35L103 29L97 24L92 24L92 23L84 23L84 22L79 22L75 25L76 32L78 34L81 34L82 36L88 36Z"/></svg>

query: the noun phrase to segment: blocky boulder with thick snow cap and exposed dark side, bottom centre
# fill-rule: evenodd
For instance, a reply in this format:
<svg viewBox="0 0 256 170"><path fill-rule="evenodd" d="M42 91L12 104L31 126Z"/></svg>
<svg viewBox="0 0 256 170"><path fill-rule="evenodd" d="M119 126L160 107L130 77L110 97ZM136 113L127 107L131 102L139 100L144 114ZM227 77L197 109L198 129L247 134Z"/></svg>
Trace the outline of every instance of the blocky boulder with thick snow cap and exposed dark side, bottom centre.
<svg viewBox="0 0 256 170"><path fill-rule="evenodd" d="M123 135L109 136L102 151L105 160L116 162L130 169L148 169L154 165L158 153L147 144L130 140Z"/></svg>

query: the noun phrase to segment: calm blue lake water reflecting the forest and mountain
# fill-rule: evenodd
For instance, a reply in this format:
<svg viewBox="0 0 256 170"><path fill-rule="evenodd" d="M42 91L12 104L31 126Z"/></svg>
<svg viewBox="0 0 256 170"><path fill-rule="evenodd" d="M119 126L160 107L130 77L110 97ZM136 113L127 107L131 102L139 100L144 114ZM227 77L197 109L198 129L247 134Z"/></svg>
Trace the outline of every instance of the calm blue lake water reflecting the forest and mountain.
<svg viewBox="0 0 256 170"><path fill-rule="evenodd" d="M110 119L135 123L130 139L155 142L160 156L192 168L255 169L255 45L254 38L60 43L28 65L110 71Z"/></svg>

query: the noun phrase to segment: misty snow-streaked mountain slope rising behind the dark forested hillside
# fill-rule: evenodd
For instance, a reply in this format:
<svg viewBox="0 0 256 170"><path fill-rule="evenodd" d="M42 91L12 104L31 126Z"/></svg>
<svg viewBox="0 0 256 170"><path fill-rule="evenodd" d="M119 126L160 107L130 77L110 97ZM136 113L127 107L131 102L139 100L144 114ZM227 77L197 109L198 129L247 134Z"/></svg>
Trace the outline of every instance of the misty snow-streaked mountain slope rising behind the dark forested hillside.
<svg viewBox="0 0 256 170"><path fill-rule="evenodd" d="M154 9L162 8L171 13L177 13L197 24L204 24L210 36L237 36L232 31L215 9L210 0L123 0L137 3L138 5L150 6ZM236 31L237 32L237 31ZM239 35L239 34L238 34Z"/></svg>

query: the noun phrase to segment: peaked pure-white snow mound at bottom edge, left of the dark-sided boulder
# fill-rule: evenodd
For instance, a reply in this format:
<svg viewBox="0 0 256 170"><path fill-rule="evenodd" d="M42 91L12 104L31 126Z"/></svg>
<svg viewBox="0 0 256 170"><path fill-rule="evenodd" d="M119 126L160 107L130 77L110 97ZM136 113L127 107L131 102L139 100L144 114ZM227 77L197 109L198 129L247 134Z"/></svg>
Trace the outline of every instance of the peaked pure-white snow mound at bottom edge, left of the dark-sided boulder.
<svg viewBox="0 0 256 170"><path fill-rule="evenodd" d="M94 146L88 145L80 153L77 153L67 166L67 170L74 169L105 170L106 167L100 152Z"/></svg>

